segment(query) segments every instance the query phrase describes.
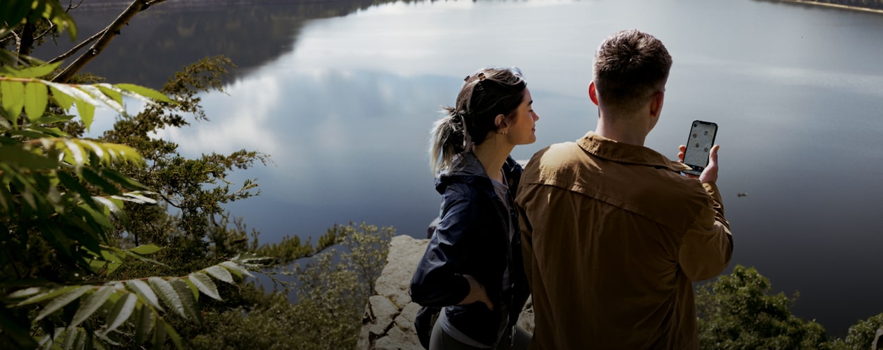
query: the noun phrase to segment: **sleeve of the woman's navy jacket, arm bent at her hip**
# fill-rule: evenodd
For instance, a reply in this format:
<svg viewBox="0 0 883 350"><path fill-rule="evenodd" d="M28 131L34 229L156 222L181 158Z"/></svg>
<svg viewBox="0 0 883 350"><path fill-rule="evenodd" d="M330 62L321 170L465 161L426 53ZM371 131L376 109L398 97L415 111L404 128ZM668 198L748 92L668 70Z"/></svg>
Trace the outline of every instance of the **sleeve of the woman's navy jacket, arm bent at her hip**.
<svg viewBox="0 0 883 350"><path fill-rule="evenodd" d="M470 244L469 227L477 214L472 197L465 186L451 185L445 190L442 220L411 278L411 301L442 307L456 305L469 294L469 281L463 273Z"/></svg>

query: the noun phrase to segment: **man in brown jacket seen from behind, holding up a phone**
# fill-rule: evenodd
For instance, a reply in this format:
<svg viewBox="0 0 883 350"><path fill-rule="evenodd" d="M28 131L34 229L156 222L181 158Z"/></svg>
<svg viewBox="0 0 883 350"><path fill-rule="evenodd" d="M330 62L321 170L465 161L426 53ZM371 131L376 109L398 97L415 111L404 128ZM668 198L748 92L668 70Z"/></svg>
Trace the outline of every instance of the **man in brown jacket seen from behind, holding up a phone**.
<svg viewBox="0 0 883 350"><path fill-rule="evenodd" d="M652 35L609 36L589 85L597 129L525 168L516 203L537 349L698 348L691 283L720 273L733 242L718 146L698 178L644 147L670 68Z"/></svg>

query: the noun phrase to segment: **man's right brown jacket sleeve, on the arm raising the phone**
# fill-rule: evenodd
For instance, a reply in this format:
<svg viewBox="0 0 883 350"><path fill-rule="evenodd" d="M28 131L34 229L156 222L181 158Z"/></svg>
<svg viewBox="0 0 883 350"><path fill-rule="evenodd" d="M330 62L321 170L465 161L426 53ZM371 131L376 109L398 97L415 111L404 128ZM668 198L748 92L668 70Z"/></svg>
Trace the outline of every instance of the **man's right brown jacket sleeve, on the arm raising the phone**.
<svg viewBox="0 0 883 350"><path fill-rule="evenodd" d="M721 194L713 182L703 183L712 205L699 212L683 235L679 261L692 281L711 279L721 273L733 256L733 235L723 216Z"/></svg>

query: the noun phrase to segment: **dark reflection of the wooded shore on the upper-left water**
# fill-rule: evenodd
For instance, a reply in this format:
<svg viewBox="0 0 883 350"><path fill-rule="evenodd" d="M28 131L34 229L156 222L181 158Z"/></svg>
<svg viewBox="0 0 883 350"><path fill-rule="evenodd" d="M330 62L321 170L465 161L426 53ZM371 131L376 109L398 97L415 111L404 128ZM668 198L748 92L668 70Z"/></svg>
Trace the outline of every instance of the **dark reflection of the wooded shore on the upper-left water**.
<svg viewBox="0 0 883 350"><path fill-rule="evenodd" d="M291 51L300 28L395 0L170 0L132 19L86 72L132 84L160 88L170 71L213 53L238 66L232 79ZM107 26L130 0L86 0L70 11L79 40ZM220 20L219 20L220 19ZM57 56L76 43L35 48L36 56ZM137 67L137 69L132 69Z"/></svg>

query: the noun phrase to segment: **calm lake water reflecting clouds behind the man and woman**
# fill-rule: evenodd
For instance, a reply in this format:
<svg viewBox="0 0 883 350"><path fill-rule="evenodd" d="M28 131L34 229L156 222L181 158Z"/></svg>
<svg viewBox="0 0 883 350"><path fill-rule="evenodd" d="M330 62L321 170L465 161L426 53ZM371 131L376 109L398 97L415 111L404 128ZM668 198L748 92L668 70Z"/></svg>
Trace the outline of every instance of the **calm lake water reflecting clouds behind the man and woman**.
<svg viewBox="0 0 883 350"><path fill-rule="evenodd" d="M513 153L527 159L594 128L593 50L634 27L675 60L647 146L674 158L691 121L720 125L728 272L755 266L777 291L799 291L796 315L831 335L883 312L883 15L753 0L162 7L88 68L159 86L201 56L233 58L227 94L204 96L212 121L162 137L185 155L272 154L275 165L238 175L259 178L262 195L229 207L264 242L363 220L425 236L440 199L427 131L463 77L525 72L540 114L536 144ZM108 20L79 16L84 35Z"/></svg>

